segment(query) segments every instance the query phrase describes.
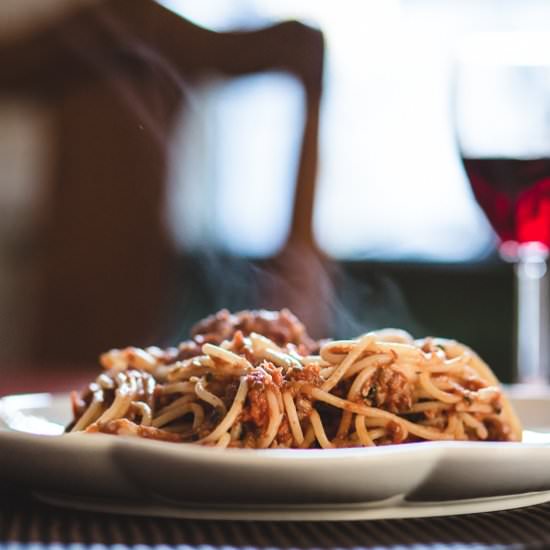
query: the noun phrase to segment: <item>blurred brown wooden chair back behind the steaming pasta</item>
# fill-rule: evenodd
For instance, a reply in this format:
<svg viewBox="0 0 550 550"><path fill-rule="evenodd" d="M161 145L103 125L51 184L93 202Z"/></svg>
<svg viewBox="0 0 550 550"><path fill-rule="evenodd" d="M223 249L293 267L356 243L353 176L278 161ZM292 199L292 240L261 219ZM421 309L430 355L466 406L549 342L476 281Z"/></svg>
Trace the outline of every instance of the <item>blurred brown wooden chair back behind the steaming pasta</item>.
<svg viewBox="0 0 550 550"><path fill-rule="evenodd" d="M320 31L298 22L218 33L153 0L86 3L47 29L0 43L0 93L31 94L54 112L35 356L88 360L158 336L175 257L163 219L167 143L185 83L202 75L276 70L303 84L301 156L281 257L315 249L323 51Z"/></svg>

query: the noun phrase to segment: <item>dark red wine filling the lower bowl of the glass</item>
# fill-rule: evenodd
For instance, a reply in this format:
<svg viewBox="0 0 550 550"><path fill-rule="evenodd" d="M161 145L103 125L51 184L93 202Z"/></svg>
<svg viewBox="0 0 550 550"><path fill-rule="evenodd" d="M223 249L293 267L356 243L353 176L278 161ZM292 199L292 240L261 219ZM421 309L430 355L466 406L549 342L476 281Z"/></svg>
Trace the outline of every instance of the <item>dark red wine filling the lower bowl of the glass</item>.
<svg viewBox="0 0 550 550"><path fill-rule="evenodd" d="M550 158L463 158L475 198L502 242L550 247Z"/></svg>

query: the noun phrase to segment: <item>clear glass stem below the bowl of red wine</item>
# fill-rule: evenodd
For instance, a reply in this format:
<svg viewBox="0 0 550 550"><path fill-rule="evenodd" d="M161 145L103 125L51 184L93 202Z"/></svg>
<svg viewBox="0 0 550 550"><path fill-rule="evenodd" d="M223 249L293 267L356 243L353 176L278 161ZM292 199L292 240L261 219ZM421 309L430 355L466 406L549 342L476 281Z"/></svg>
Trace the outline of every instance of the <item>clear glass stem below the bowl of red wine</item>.
<svg viewBox="0 0 550 550"><path fill-rule="evenodd" d="M546 257L522 251L515 265L517 281L517 378L523 384L548 381L548 361L542 349L547 325L548 293L544 287Z"/></svg>

